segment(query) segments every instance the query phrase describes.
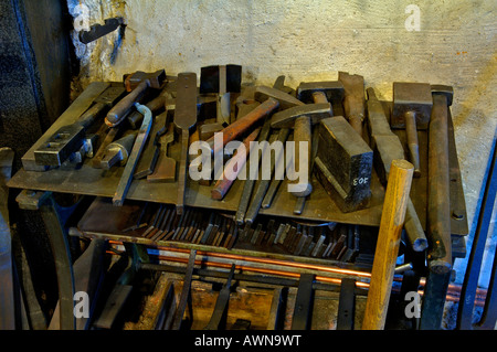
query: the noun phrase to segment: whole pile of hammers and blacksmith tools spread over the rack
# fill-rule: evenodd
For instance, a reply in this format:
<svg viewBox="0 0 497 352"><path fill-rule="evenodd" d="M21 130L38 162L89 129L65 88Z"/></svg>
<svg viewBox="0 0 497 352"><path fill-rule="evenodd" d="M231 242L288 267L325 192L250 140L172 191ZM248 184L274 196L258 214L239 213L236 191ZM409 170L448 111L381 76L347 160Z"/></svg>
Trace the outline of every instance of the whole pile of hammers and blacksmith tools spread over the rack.
<svg viewBox="0 0 497 352"><path fill-rule="evenodd" d="M313 194L313 175L341 212L367 209L373 171L385 186L390 166L393 160L405 159L404 149L414 166L414 178L421 177L417 129L429 130L430 168L423 175L430 189L427 231L425 234L410 199L404 230L414 252L429 248L433 270L450 270L446 120L451 87L393 83L393 104L385 105L372 88L364 88L362 76L345 72L339 73L338 81L303 82L296 89L285 85L284 76L278 76L272 87L242 87L240 65L219 65L202 67L200 87L197 82L195 73L176 77L167 76L165 70L125 75L124 85L109 86L74 124L61 128L41 146L34 153L36 163L47 168L82 163L86 156L94 168L124 168L113 199L117 206L123 206L134 180L176 182L176 210L160 205L142 234L152 241L226 248L240 241L278 245L295 255L340 257L334 245L347 242L343 248L350 252L353 238L332 239L330 233L325 234L326 226L299 226L286 220L258 222L260 210L271 207L277 192L289 192L298 217ZM96 124L103 115L103 124ZM406 148L392 129L405 129ZM216 139L218 132L222 137ZM195 141L205 142L208 161L214 163L210 177L197 181L189 178L192 167L199 168L191 163L198 158L189 152ZM232 141L243 142L245 148L237 150L244 152L230 153L225 147ZM256 150L252 148L254 141L268 145ZM272 148L276 143L288 146L287 141L295 142L294 154L288 153L288 147ZM300 148L303 142L307 150ZM171 146L180 147L179 154L171 152ZM260 158L252 158L258 153ZM214 174L220 162L224 172ZM226 170L235 170L236 177L253 168L260 178L250 178L247 172L245 180L237 181L243 188L234 216L211 213L205 218L203 211L186 206L186 190L191 182L211 188L212 200L222 202L236 182ZM297 168L307 169L305 182L293 178ZM288 185L294 185L292 190L281 186L282 174Z"/></svg>

